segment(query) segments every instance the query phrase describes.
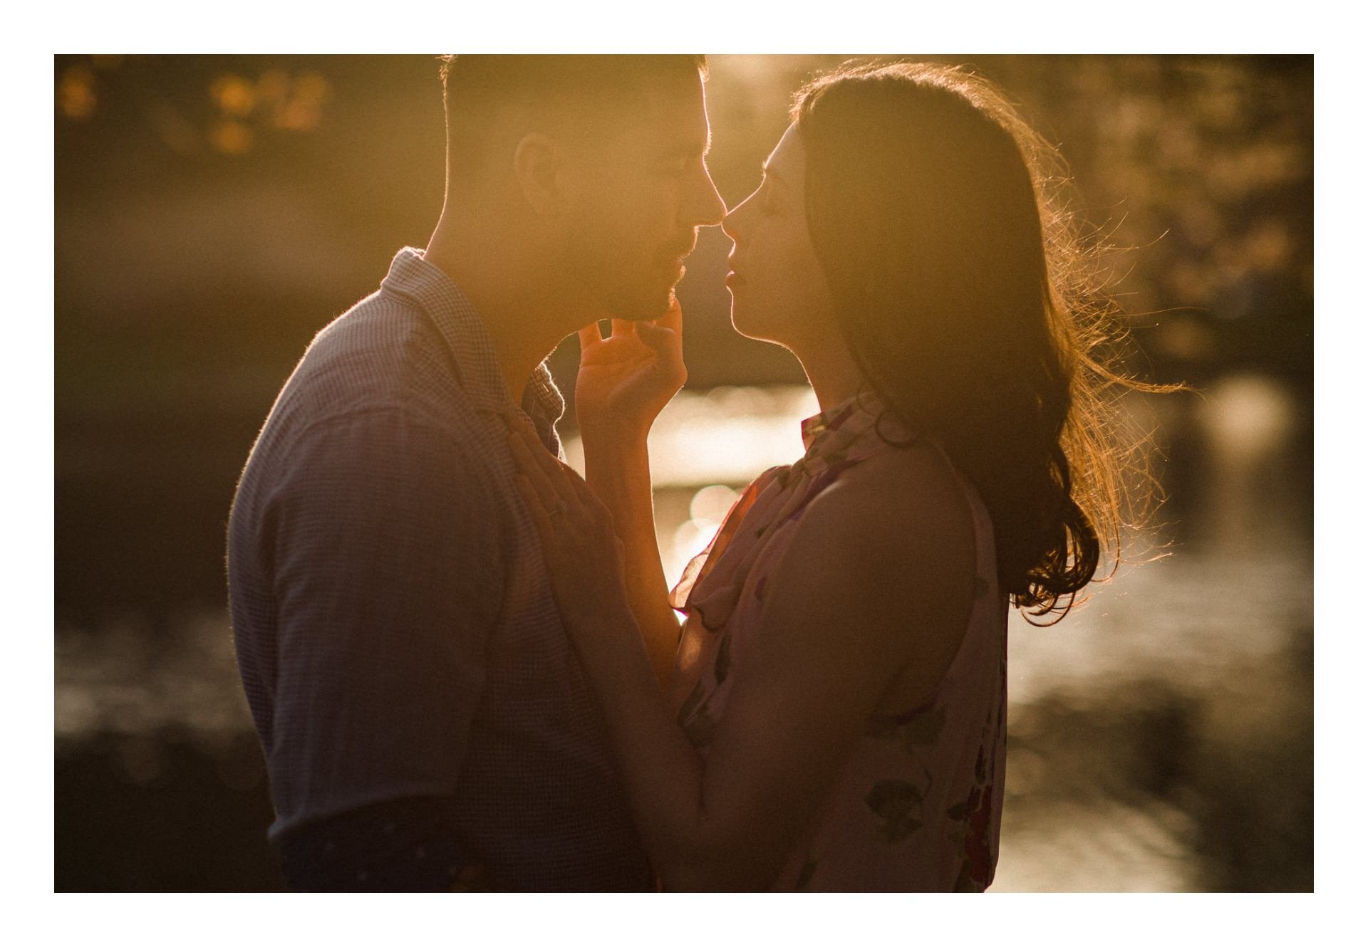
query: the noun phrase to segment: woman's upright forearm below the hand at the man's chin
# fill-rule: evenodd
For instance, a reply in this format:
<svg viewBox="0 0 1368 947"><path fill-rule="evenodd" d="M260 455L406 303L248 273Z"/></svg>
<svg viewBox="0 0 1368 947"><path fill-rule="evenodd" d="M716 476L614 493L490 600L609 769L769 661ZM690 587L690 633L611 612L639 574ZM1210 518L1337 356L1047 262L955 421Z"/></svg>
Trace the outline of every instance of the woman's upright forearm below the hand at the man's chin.
<svg viewBox="0 0 1368 947"><path fill-rule="evenodd" d="M584 480L613 515L622 541L628 604L646 644L651 671L668 689L679 649L680 625L669 605L665 570L655 540L650 455L646 436L584 436Z"/></svg>

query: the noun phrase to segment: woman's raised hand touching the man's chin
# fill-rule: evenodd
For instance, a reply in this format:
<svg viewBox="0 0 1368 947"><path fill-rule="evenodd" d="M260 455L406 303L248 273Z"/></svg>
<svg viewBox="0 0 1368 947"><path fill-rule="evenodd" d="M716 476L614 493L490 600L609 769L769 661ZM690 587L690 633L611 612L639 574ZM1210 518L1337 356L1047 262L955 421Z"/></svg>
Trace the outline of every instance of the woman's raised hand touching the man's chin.
<svg viewBox="0 0 1368 947"><path fill-rule="evenodd" d="M598 322L580 329L575 414L586 443L644 440L655 415L688 379L683 339L684 312L673 297L661 318L614 318L607 339Z"/></svg>

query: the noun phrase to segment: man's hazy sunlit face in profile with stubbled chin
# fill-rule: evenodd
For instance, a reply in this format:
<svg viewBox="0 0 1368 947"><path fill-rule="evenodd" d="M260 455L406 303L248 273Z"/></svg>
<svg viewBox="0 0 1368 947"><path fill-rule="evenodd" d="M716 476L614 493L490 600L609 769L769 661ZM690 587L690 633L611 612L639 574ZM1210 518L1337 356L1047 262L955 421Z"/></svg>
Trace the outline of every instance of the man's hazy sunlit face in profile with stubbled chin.
<svg viewBox="0 0 1368 947"><path fill-rule="evenodd" d="M698 228L726 212L705 164L702 77L643 90L611 124L576 161L566 257L596 318L658 318Z"/></svg>

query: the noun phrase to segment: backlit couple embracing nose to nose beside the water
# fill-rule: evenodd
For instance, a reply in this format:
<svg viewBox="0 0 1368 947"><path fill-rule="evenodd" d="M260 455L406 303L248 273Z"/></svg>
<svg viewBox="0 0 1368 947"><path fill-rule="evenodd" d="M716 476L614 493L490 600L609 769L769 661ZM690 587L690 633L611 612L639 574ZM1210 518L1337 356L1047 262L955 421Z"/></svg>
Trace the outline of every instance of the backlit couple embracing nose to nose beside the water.
<svg viewBox="0 0 1368 947"><path fill-rule="evenodd" d="M233 506L293 888L992 881L1008 607L1067 611L1118 508L1052 153L970 72L848 64L728 210L706 72L446 60L436 230L309 346ZM669 589L647 432L718 224L736 329L821 413Z"/></svg>

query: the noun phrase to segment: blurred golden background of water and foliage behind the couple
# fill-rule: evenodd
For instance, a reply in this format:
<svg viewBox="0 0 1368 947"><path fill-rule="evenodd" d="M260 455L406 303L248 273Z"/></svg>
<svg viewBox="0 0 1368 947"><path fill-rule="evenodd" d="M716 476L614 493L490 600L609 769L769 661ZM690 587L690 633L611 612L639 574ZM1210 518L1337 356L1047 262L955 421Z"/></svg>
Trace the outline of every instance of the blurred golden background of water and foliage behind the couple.
<svg viewBox="0 0 1368 947"><path fill-rule="evenodd" d="M1112 243L1168 496L1062 625L1014 616L993 891L1312 888L1312 59L912 56L1000 82ZM710 57L714 180L759 180L843 56ZM57 56L59 891L279 890L237 679L224 529L271 403L442 202L430 56ZM729 241L679 295L653 432L666 573L802 454L798 362L736 335ZM573 336L553 372L570 399ZM1161 559L1148 559L1166 552Z"/></svg>

